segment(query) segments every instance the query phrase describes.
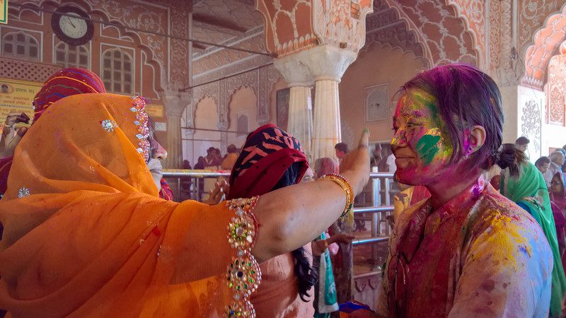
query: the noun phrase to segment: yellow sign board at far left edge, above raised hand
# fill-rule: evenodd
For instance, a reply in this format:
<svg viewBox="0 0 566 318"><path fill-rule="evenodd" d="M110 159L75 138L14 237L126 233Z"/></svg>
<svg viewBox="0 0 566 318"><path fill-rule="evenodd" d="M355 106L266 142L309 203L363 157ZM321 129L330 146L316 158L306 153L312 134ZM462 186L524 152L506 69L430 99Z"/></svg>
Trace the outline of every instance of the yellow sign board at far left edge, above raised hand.
<svg viewBox="0 0 566 318"><path fill-rule="evenodd" d="M8 112L25 112L33 119L32 101L42 86L42 83L0 78L0 126L4 126ZM30 124L18 124L18 126L30 126Z"/></svg>

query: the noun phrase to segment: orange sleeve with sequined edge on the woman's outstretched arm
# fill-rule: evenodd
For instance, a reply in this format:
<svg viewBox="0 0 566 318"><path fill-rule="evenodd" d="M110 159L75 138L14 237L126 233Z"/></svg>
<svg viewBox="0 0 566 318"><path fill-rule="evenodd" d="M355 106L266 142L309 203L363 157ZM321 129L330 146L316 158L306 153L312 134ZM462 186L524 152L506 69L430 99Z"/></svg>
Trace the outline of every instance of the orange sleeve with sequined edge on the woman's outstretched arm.
<svg viewBox="0 0 566 318"><path fill-rule="evenodd" d="M258 235L253 213L257 201L254 197L204 206L195 213L178 257L178 283L200 290L195 286L210 284L201 281L219 278L214 290L202 293L201 298L208 306L222 307L221 317L255 317L249 298L261 280L260 266L250 252Z"/></svg>

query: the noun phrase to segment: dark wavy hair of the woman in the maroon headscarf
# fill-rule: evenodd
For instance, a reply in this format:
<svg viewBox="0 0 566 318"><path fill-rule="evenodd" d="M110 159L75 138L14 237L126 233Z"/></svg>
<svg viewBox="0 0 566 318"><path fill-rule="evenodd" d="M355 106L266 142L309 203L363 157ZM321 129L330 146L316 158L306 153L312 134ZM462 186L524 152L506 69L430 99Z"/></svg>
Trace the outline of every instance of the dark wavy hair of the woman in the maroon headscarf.
<svg viewBox="0 0 566 318"><path fill-rule="evenodd" d="M273 189L271 189L271 191L296 184L300 165L301 163L294 163L290 165L287 171L285 171L285 173L282 175L281 179L279 179L279 182L277 182ZM318 281L318 273L309 263L306 253L307 252L304 247L299 247L298 249L295 249L293 252L291 252L295 260L294 271L297 277L297 284L299 285L299 296L304 302L308 302L308 299L306 298L311 297L311 295L308 294L308 290L310 290Z"/></svg>

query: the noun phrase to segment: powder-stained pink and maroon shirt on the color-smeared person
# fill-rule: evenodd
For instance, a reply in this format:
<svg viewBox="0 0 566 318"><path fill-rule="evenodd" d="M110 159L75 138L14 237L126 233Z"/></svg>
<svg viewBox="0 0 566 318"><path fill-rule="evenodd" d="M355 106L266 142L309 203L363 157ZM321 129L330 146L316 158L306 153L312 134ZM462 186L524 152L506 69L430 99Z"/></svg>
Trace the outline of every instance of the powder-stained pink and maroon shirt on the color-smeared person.
<svg viewBox="0 0 566 318"><path fill-rule="evenodd" d="M389 247L380 317L548 317L545 235L482 177L435 211L401 213Z"/></svg>

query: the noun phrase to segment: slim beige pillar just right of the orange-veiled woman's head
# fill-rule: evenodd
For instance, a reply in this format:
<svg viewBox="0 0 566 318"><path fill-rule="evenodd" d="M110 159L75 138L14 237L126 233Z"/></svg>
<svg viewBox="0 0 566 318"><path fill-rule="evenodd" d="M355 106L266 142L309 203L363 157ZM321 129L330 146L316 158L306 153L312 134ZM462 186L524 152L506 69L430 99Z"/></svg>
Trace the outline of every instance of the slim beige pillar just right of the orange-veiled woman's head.
<svg viewBox="0 0 566 318"><path fill-rule="evenodd" d="M192 96L187 92L178 90L164 90L161 100L165 105L167 115L167 158L163 166L168 169L180 169L183 164L183 141L181 139L181 115L185 107L192 102Z"/></svg>

